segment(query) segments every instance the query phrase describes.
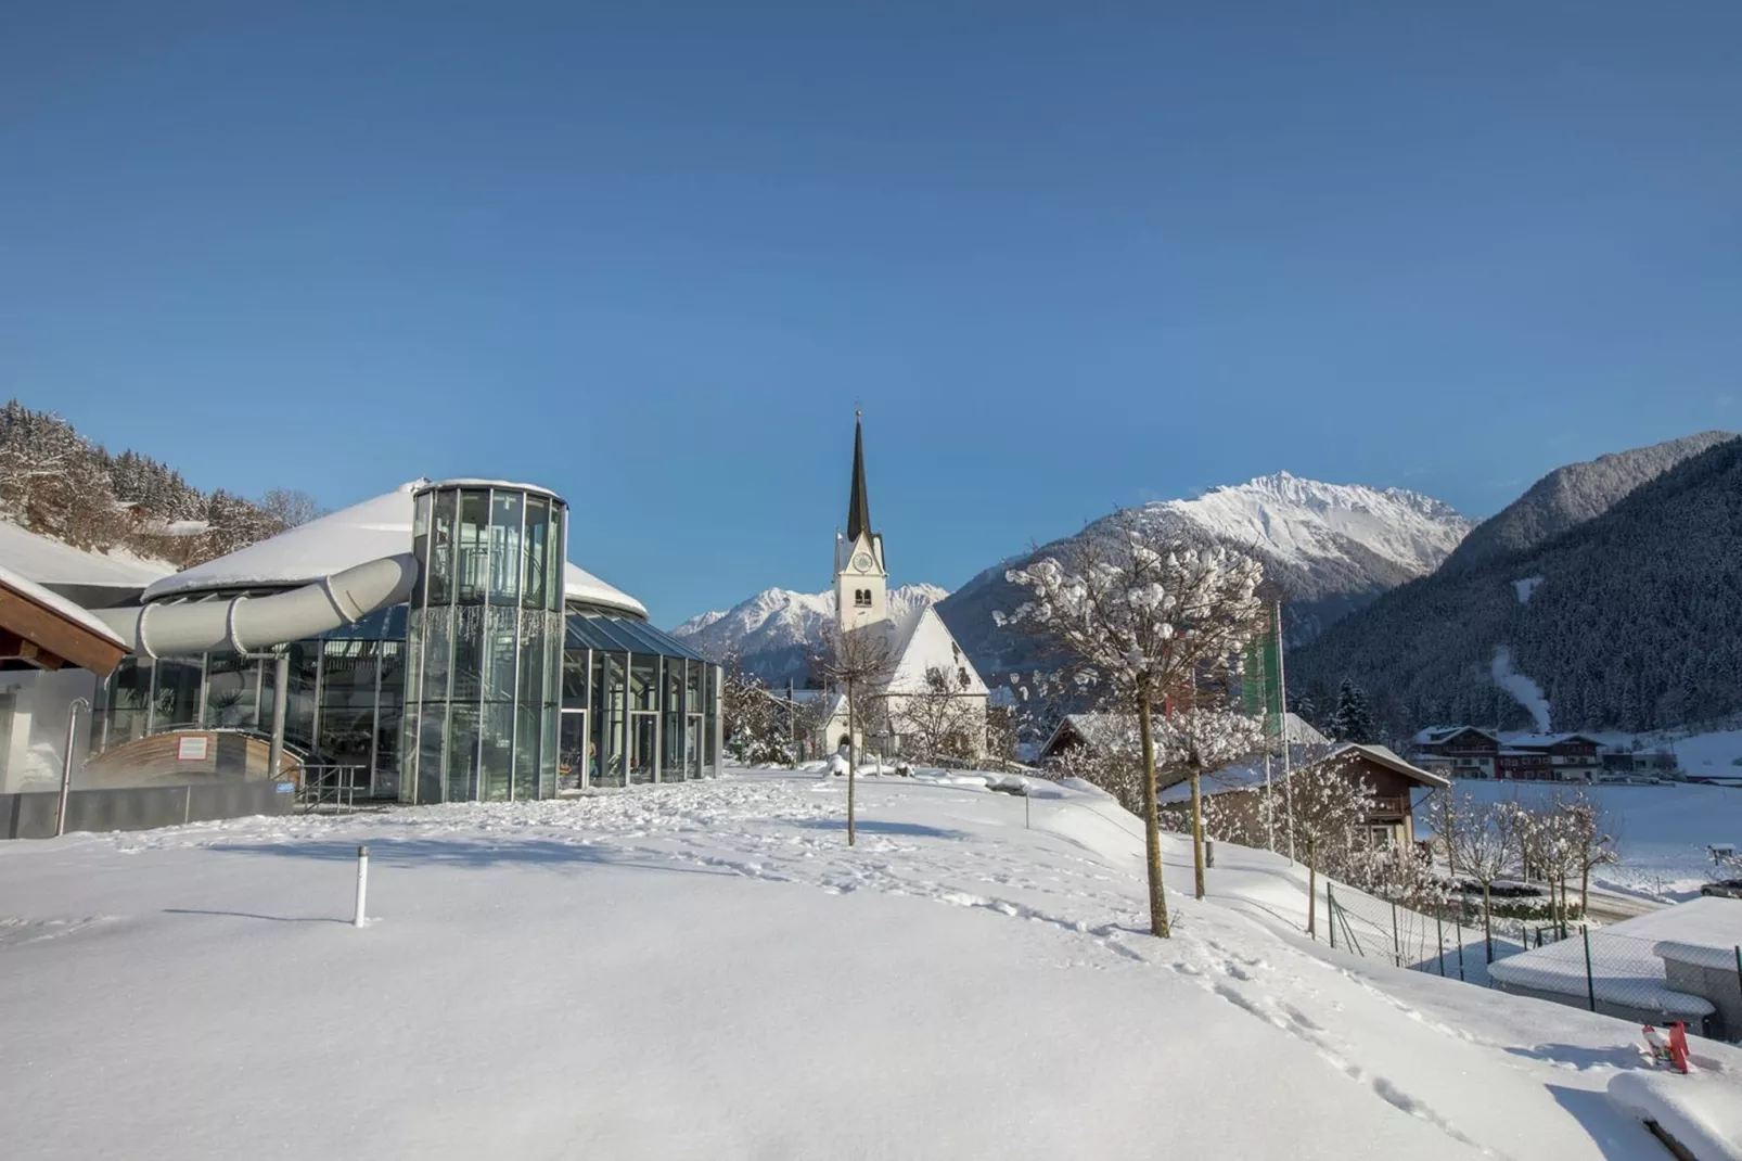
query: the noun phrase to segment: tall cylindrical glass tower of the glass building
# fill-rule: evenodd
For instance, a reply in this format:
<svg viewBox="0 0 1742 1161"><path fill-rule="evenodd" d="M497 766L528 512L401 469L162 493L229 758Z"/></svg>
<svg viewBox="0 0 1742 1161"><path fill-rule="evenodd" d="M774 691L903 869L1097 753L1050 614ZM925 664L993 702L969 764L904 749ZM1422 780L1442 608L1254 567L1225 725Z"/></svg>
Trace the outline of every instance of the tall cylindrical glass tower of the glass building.
<svg viewBox="0 0 1742 1161"><path fill-rule="evenodd" d="M556 793L568 506L509 485L413 497L404 802Z"/></svg>

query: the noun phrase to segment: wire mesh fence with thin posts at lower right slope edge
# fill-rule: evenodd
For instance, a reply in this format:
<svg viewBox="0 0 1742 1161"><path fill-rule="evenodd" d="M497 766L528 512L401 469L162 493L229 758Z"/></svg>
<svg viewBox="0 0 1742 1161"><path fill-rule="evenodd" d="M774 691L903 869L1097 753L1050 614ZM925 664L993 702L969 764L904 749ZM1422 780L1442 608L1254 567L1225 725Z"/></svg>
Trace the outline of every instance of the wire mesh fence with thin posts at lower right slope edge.
<svg viewBox="0 0 1742 1161"><path fill-rule="evenodd" d="M1641 940L1587 924L1418 910L1326 884L1331 945L1465 983L1742 1041L1742 945Z"/></svg>

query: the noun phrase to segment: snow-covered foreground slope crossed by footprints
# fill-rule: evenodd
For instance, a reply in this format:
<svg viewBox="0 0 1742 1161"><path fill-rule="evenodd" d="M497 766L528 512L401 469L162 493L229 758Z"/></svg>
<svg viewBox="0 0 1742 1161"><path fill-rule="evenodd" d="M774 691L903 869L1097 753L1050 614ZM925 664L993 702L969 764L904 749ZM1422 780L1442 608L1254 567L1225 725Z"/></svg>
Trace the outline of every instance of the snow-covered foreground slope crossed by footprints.
<svg viewBox="0 0 1742 1161"><path fill-rule="evenodd" d="M1637 1029L1331 952L1286 859L1221 847L1197 903L1169 838L1160 941L1097 791L862 779L852 849L843 798L746 772L0 844L5 1152L1660 1156L1606 1095Z"/></svg>

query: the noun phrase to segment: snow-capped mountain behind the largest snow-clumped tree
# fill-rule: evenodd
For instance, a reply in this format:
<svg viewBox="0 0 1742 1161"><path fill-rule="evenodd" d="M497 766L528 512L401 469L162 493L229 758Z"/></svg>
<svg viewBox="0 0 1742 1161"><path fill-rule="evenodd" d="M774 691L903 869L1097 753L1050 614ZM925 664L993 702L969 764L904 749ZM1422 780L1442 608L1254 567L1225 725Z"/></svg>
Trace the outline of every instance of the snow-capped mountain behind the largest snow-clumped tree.
<svg viewBox="0 0 1742 1161"><path fill-rule="evenodd" d="M1289 594L1293 642L1312 640L1380 593L1434 572L1474 526L1451 506L1420 492L1320 483L1289 472L1212 488L1190 500L1155 500L1138 513L1144 523L1179 537L1254 551ZM1111 519L1103 518L1077 537L1104 532ZM937 614L981 673L1024 666L1033 648L993 622L993 610L1021 601L1003 579L1005 570L1077 537L1000 561L939 601Z"/></svg>

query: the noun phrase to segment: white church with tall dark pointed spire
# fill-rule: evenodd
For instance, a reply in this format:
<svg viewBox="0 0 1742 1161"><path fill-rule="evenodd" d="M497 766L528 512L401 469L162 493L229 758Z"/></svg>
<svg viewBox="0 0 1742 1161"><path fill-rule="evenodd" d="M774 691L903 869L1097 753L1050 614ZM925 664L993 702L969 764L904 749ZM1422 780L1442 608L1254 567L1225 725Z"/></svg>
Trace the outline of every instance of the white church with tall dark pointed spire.
<svg viewBox="0 0 1742 1161"><path fill-rule="evenodd" d="M890 614L883 535L871 530L864 420L854 417L847 533L834 533L834 626L883 635L888 664L855 694L857 743L883 758L979 758L986 753L986 683L930 605ZM847 744L847 696L831 690L820 727L826 750Z"/></svg>

